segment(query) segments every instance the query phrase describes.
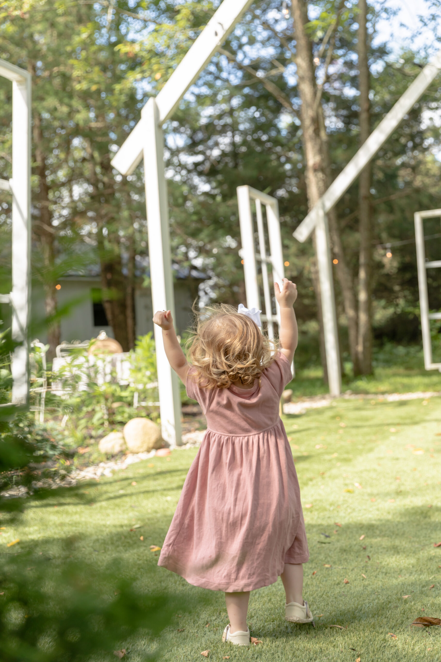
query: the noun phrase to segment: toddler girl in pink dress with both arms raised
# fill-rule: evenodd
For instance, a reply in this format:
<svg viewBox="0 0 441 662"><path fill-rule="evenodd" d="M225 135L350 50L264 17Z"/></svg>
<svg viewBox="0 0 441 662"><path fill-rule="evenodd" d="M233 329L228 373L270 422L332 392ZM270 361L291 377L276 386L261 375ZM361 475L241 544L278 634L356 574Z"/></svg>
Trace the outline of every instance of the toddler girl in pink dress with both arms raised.
<svg viewBox="0 0 441 662"><path fill-rule="evenodd" d="M293 308L297 289L284 278L282 290L277 284L275 290L279 352L262 336L252 313L221 305L199 319L189 365L170 311L153 317L163 330L171 367L186 384L188 397L199 402L208 424L159 565L195 586L225 591L230 622L223 641L239 645L250 641L250 591L273 584L279 575L286 620L313 620L302 597L301 564L309 553L300 489L279 416L298 340Z"/></svg>

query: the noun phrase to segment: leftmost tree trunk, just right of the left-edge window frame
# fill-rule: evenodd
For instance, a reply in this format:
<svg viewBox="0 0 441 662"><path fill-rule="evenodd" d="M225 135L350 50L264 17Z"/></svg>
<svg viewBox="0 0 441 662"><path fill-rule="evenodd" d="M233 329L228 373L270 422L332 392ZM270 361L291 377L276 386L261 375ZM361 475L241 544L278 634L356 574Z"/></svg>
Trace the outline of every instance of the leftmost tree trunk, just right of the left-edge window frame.
<svg viewBox="0 0 441 662"><path fill-rule="evenodd" d="M38 236L42 252L42 261L44 267L44 309L46 317L53 318L57 312L56 283L54 282L54 258L55 258L55 234L56 230L52 226L49 211L49 187L46 179L46 160L42 147L43 136L41 128L41 118L38 113L34 113L34 127L32 137L35 146L35 166L34 173L38 177L38 193L34 200L36 207L40 210L40 217L34 219L34 234ZM60 322L51 322L48 326L49 349L46 354L48 362L52 361L56 355L56 348L60 345Z"/></svg>

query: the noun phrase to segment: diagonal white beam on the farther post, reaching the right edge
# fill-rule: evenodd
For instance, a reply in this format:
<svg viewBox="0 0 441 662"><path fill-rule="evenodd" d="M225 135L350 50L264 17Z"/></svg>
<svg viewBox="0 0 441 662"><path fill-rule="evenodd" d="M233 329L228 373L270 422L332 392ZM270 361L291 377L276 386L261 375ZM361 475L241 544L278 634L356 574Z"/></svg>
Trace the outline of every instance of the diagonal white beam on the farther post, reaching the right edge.
<svg viewBox="0 0 441 662"><path fill-rule="evenodd" d="M307 240L318 222L321 209L323 207L325 214L333 209L339 202L342 195L346 193L352 182L358 177L364 166L366 166L372 157L378 152L391 133L397 128L399 122L406 113L418 101L421 95L426 91L430 83L438 75L441 69L441 50L434 59L426 64L415 81L409 85L405 93L399 98L393 108L381 120L377 128L370 134L368 140L360 147L356 155L350 160L341 173L335 178L329 189L321 197L317 205L311 209L309 214L300 223L300 226L293 232L293 236L300 242Z"/></svg>

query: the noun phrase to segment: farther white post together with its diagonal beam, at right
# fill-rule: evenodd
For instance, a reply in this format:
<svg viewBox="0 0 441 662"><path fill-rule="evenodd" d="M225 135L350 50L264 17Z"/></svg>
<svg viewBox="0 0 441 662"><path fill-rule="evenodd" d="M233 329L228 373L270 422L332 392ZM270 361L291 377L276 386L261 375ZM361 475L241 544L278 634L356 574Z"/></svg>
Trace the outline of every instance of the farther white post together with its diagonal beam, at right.
<svg viewBox="0 0 441 662"><path fill-rule="evenodd" d="M321 286L321 305L323 310L323 326L325 330L326 361L331 395L341 393L341 368L339 361L339 340L337 338L337 314L333 291L333 275L331 267L331 247L326 214L337 205L342 195L346 193L352 182L362 169L370 162L391 133L397 128L406 113L418 101L430 83L441 70L441 50L434 59L426 64L415 81L409 85L405 93L395 103L393 108L383 117L377 128L370 134L368 140L360 147L355 156L342 169L329 189L319 199L317 204L303 219L293 236L300 242L305 242L315 230L317 244L317 263Z"/></svg>

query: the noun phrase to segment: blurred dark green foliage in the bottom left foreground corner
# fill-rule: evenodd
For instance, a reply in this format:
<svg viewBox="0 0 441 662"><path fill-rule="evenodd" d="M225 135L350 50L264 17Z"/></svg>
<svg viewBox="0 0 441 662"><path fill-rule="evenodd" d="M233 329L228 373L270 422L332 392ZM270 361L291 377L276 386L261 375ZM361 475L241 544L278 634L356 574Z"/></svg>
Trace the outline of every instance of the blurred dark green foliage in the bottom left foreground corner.
<svg viewBox="0 0 441 662"><path fill-rule="evenodd" d="M118 562L97 571L85 561L52 568L48 560L11 553L1 562L4 662L111 660L115 649L130 652L127 641L134 636L158 636L183 606L179 596L140 591L136 578L122 577ZM153 661L158 653L155 646L138 659Z"/></svg>

